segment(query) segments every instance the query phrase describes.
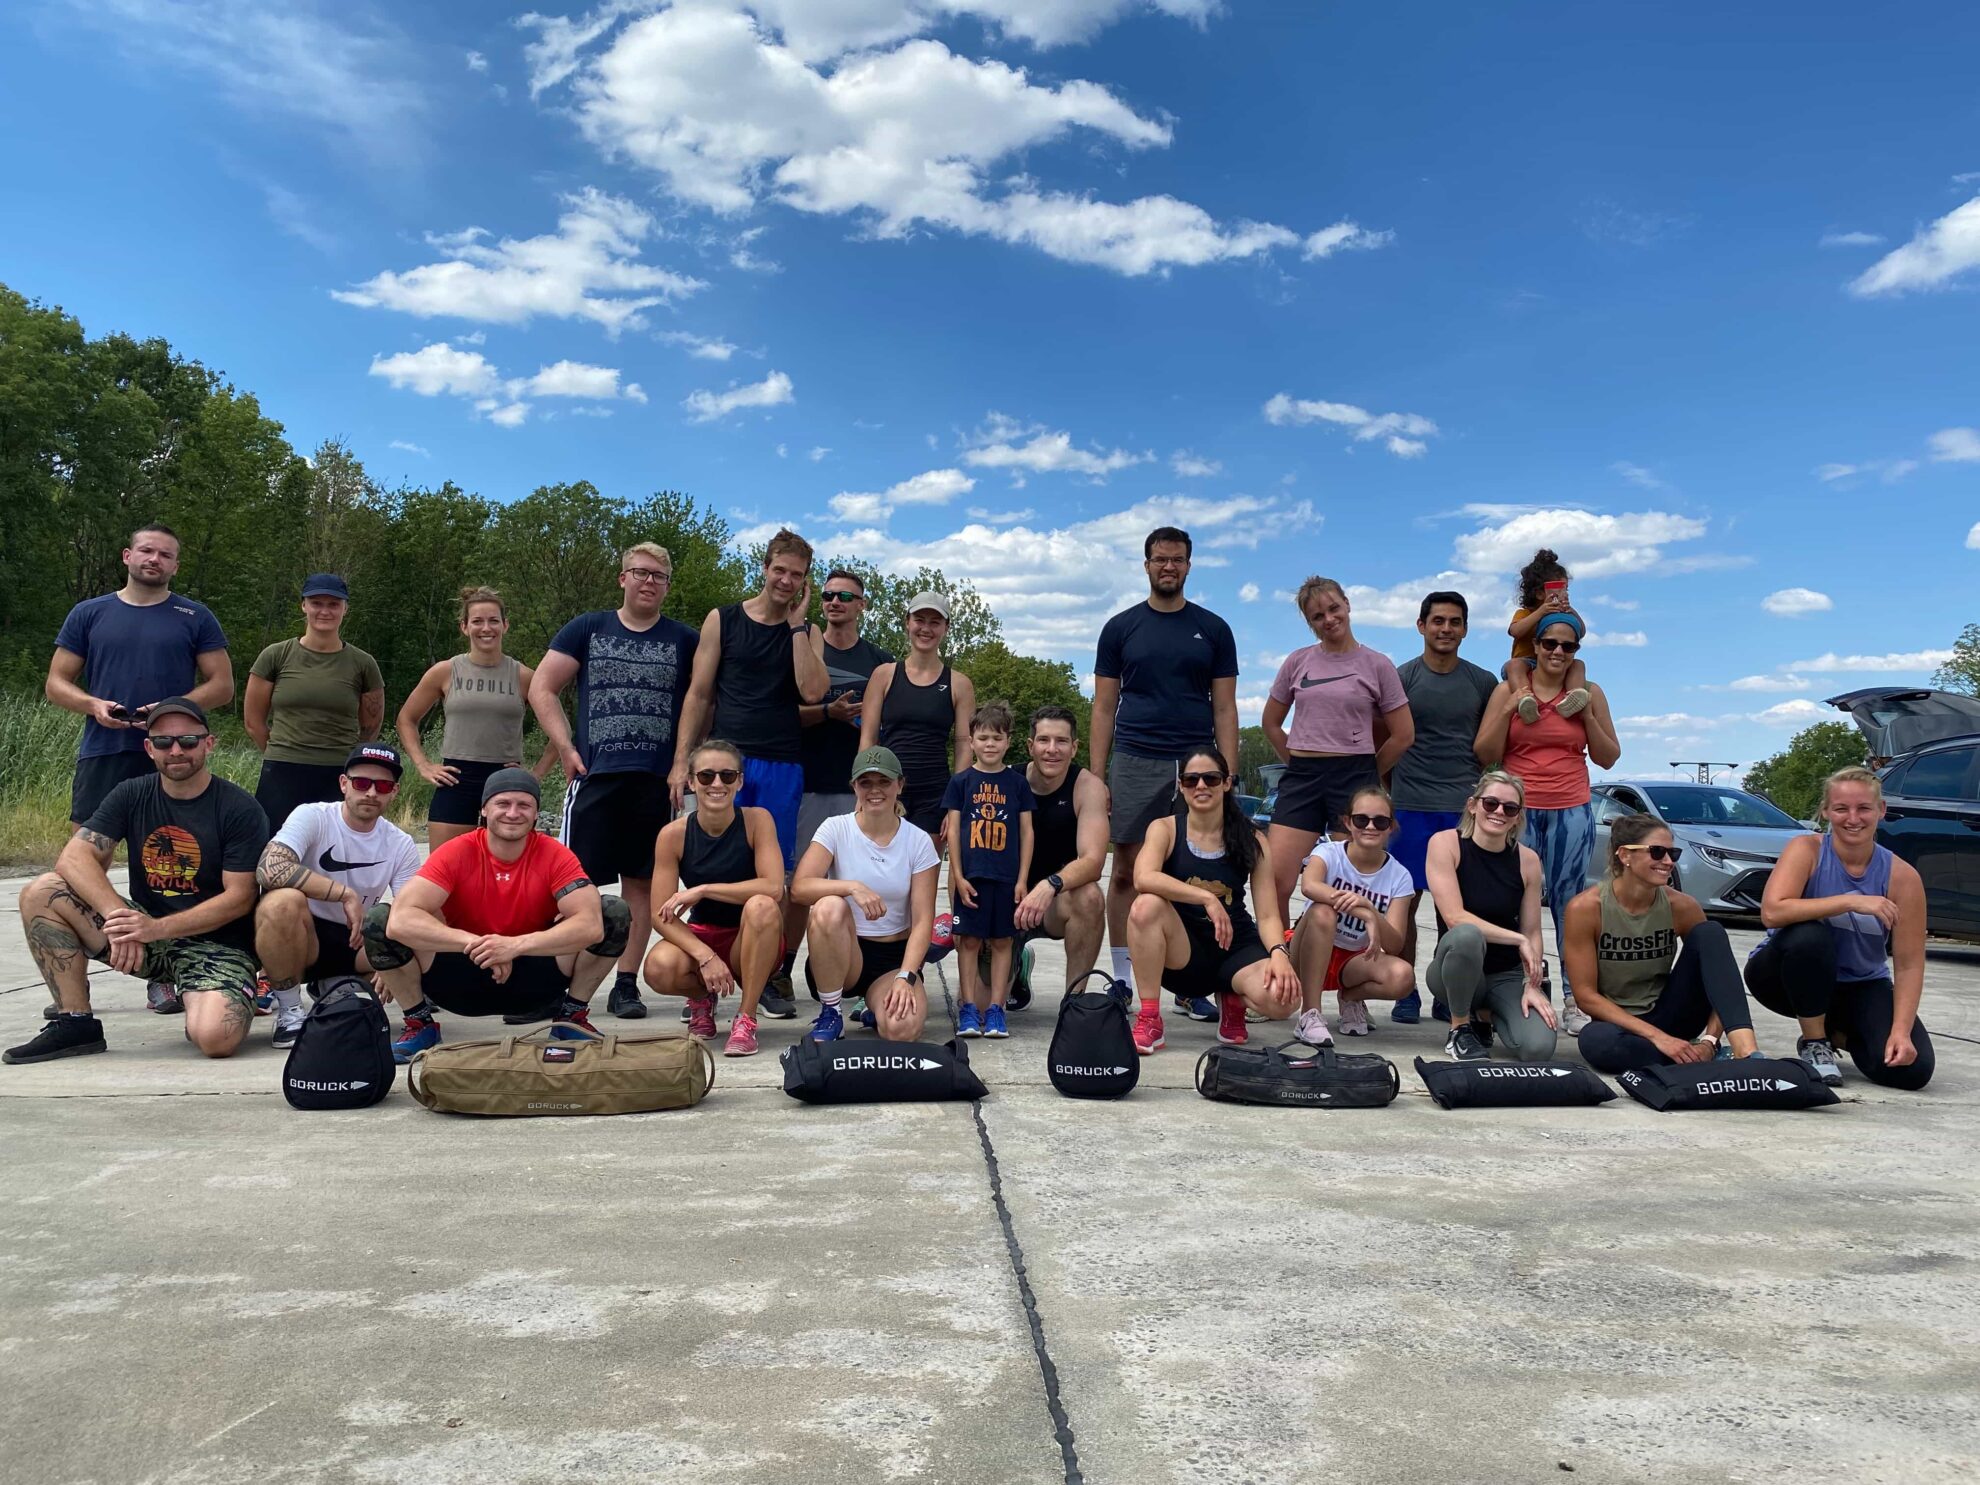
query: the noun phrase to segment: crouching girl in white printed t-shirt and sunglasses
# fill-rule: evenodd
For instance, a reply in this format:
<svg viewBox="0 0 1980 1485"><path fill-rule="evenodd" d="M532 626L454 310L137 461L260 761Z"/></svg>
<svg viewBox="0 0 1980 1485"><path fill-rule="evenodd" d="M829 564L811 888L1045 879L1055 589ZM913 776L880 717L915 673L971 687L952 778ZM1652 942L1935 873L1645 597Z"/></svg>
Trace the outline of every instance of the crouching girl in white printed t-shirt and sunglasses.
<svg viewBox="0 0 1980 1485"><path fill-rule="evenodd" d="M1313 903L1293 933L1301 1002L1297 1036L1325 1045L1321 996L1340 996L1340 1036L1368 1036L1370 1000L1400 1000L1416 986L1416 966L1402 958L1410 927L1408 867L1388 853L1396 806L1388 790L1366 784L1348 800L1346 842L1321 842L1305 859L1299 889Z"/></svg>

